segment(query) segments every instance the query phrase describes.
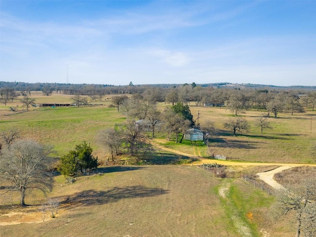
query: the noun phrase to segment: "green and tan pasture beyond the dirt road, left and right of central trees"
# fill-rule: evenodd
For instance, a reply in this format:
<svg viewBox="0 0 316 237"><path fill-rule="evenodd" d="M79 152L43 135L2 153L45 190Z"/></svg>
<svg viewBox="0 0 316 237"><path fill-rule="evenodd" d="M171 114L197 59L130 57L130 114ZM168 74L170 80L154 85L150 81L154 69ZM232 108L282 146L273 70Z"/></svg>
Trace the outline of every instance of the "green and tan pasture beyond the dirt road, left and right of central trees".
<svg viewBox="0 0 316 237"><path fill-rule="evenodd" d="M32 92L31 97L36 103L71 103L71 96L53 93L44 96L41 92ZM8 108L18 104L19 100L0 107L0 129L15 127L21 131L24 138L33 138L43 144L52 145L57 156L66 154L76 144L83 140L90 142L94 153L99 158L105 158L106 151L97 143L97 132L106 127L121 123L125 117L116 108L109 108L108 100L95 101L100 106L32 108L30 112L15 114ZM158 104L163 107L164 103ZM19 105L19 110L22 109ZM303 114L279 113L278 118L268 118L273 129L264 129L254 125L255 119L265 114L265 111L246 111L240 117L247 119L251 125L249 133L234 136L232 131L224 129L223 123L232 118L232 112L227 108L190 107L194 119L199 113L199 123L212 120L219 133L210 137L209 150L203 144L182 146L174 140L164 140L163 133L157 133L157 142L168 148L207 157L212 154L223 155L232 159L261 162L292 162L311 163L313 159L308 154L310 146L316 142L316 111L307 110ZM9 116L3 116L4 114Z"/></svg>

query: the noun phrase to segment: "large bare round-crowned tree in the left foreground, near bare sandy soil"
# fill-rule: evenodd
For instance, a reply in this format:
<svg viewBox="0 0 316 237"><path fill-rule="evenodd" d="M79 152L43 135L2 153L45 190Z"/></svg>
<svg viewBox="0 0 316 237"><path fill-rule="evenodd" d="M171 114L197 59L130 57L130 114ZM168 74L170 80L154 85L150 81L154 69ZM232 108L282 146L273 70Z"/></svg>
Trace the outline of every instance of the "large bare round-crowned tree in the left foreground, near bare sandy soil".
<svg viewBox="0 0 316 237"><path fill-rule="evenodd" d="M27 189L40 189L45 193L52 188L49 153L50 149L33 140L18 140L1 152L0 178L20 191L21 206L25 206Z"/></svg>

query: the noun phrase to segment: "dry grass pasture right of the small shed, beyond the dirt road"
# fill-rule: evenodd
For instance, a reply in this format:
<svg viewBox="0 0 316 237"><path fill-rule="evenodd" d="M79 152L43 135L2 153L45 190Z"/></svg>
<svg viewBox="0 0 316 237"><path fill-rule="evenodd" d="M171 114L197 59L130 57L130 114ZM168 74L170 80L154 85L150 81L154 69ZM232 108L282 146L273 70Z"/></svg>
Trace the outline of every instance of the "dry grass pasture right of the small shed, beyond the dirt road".
<svg viewBox="0 0 316 237"><path fill-rule="evenodd" d="M268 119L274 129L265 129L263 134L260 133L258 127L254 126L254 121L264 112L247 111L240 116L247 119L251 125L251 130L247 134L238 134L235 137L232 131L223 128L223 122L231 117L230 110L213 107L191 107L190 109L195 116L199 111L200 123L210 119L220 129L220 133L212 137L209 144L213 154L246 161L315 162L308 152L311 144L316 142L315 118L312 120L311 132L311 115L315 116L316 111L308 111L308 113L293 116L280 113L279 118Z"/></svg>

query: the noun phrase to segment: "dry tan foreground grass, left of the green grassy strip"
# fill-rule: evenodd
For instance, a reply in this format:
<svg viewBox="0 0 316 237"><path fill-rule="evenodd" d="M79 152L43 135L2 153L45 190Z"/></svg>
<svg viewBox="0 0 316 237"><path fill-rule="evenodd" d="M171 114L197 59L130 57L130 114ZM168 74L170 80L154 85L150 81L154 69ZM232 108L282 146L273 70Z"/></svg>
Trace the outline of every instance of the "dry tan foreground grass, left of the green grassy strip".
<svg viewBox="0 0 316 237"><path fill-rule="evenodd" d="M189 237L211 236L214 230L227 236L221 224L224 210L211 191L219 180L207 172L175 165L110 167L104 172L73 185L57 183L51 195L66 197L71 205L49 222L0 226L0 236Z"/></svg>

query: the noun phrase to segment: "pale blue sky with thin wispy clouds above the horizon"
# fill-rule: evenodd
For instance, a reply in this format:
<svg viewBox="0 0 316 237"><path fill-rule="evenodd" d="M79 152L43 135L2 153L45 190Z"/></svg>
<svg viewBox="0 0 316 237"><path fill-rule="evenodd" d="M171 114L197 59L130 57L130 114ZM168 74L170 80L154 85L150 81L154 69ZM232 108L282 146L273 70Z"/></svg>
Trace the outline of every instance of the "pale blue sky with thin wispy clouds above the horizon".
<svg viewBox="0 0 316 237"><path fill-rule="evenodd" d="M0 1L0 80L316 85L316 1Z"/></svg>

